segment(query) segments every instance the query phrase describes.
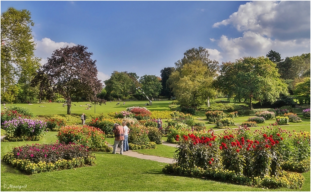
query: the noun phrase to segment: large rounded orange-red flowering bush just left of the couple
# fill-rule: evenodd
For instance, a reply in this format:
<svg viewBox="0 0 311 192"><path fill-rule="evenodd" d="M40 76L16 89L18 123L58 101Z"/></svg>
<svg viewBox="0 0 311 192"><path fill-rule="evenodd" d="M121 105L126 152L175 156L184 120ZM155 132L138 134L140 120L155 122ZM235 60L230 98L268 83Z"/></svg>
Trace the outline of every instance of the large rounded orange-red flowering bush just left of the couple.
<svg viewBox="0 0 311 192"><path fill-rule="evenodd" d="M62 127L57 137L60 142L83 145L91 151L112 151L112 147L109 147L108 143L105 142L104 132L88 125Z"/></svg>

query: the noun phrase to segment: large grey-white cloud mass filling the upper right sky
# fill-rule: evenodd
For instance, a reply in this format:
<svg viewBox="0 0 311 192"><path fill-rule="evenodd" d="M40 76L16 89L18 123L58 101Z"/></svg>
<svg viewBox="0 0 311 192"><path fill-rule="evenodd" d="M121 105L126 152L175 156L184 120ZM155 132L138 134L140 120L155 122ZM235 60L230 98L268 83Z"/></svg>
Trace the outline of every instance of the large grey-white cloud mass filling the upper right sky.
<svg viewBox="0 0 311 192"><path fill-rule="evenodd" d="M286 56L310 52L309 1L255 1L240 5L228 19L213 27L232 25L242 37L222 35L216 41L225 60L266 55L275 50Z"/></svg>

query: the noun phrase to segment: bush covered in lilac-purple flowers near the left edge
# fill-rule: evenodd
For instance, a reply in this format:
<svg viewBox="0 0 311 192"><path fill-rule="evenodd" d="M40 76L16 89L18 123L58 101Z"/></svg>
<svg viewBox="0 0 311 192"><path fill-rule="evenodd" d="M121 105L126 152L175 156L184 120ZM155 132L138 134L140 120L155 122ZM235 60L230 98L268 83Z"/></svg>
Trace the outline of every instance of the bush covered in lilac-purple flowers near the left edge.
<svg viewBox="0 0 311 192"><path fill-rule="evenodd" d="M46 123L41 120L17 119L4 121L2 129L7 134L3 141L39 141L46 130Z"/></svg>

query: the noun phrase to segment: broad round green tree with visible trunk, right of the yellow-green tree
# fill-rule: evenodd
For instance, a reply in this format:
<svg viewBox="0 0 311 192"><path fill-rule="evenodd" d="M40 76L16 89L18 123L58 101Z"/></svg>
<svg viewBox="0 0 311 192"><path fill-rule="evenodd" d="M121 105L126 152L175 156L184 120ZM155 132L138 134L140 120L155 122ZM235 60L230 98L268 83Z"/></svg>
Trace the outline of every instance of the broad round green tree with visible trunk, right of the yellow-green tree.
<svg viewBox="0 0 311 192"><path fill-rule="evenodd" d="M222 64L217 84L228 97L249 98L252 110L252 100L273 103L280 94L288 95L287 85L279 77L276 64L268 58L243 57Z"/></svg>

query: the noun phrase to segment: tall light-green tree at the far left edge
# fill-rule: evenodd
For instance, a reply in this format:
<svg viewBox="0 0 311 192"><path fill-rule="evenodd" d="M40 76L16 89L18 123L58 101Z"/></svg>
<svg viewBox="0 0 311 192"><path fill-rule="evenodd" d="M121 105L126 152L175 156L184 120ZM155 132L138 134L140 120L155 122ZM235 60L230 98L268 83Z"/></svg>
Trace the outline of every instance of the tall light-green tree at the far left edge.
<svg viewBox="0 0 311 192"><path fill-rule="evenodd" d="M27 10L12 7L1 15L1 96L10 86L15 86L16 81L26 84L20 86L22 88L29 87L40 66L40 59L34 55L35 42L31 34L34 23L30 15ZM24 93L27 90L30 89L23 90Z"/></svg>

